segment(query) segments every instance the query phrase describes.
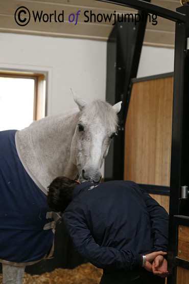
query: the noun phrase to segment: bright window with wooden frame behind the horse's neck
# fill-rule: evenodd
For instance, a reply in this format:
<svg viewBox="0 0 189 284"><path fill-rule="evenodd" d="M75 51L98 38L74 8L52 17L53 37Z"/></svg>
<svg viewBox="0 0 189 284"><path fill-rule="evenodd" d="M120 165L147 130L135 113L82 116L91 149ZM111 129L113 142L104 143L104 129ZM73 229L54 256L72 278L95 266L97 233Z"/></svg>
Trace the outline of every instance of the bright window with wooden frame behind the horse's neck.
<svg viewBox="0 0 189 284"><path fill-rule="evenodd" d="M0 130L22 129L44 116L44 74L0 72Z"/></svg>

